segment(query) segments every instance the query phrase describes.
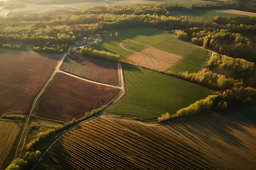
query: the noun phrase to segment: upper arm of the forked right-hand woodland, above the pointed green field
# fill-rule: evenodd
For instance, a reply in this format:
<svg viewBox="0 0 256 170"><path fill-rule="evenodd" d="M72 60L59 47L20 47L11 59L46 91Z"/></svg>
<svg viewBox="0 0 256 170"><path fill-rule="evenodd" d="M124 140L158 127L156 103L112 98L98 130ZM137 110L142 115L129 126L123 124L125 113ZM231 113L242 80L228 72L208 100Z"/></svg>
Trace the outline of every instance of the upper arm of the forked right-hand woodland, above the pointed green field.
<svg viewBox="0 0 256 170"><path fill-rule="evenodd" d="M171 74L170 71L167 73ZM255 74L253 62L215 54L210 57L205 69L191 74L186 71L178 76L214 90L226 90L240 86L255 87Z"/></svg>

